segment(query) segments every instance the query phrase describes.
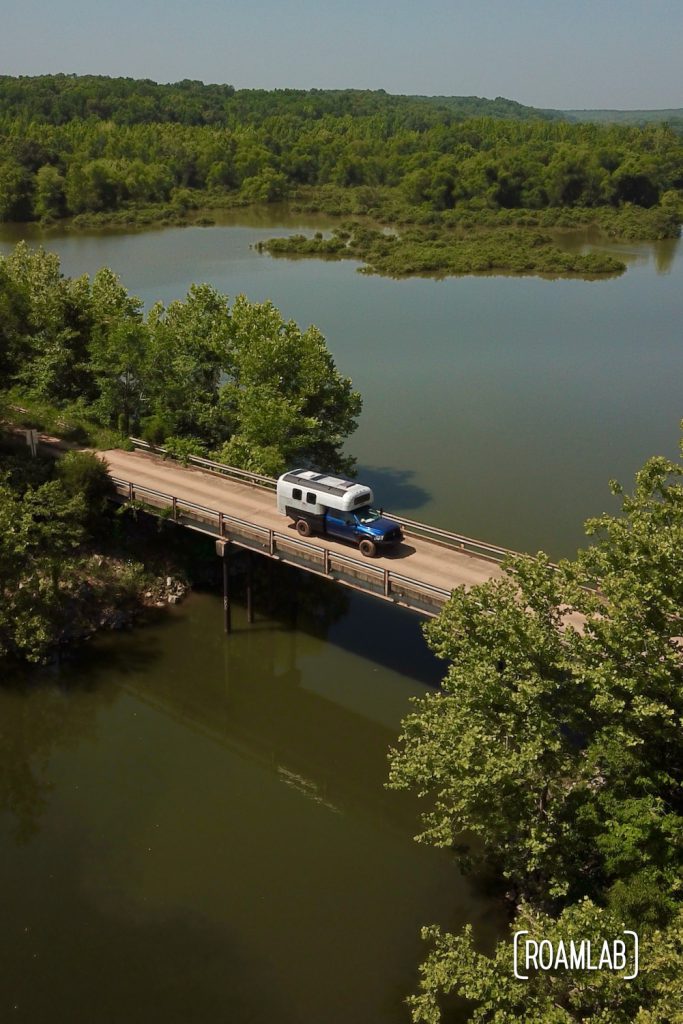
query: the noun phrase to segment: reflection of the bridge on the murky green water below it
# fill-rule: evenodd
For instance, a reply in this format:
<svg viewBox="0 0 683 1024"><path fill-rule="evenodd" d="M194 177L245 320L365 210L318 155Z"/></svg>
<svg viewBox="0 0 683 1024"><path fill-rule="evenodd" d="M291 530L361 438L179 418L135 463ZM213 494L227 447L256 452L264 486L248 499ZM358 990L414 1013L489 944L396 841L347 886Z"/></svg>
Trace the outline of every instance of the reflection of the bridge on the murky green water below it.
<svg viewBox="0 0 683 1024"><path fill-rule="evenodd" d="M414 692L422 672L433 683L442 674L420 636L420 620L368 598L348 614L355 595L296 570L287 577L300 578L296 593L289 591L297 628L291 615L284 622L259 616L250 626L238 606L226 640L220 603L206 595L195 599L202 611L190 615L182 646L168 634L174 655L171 665L165 658L166 671L124 667L122 685L306 798L411 834L414 800L387 796L383 783L397 698ZM138 648L136 642L135 659ZM204 671L198 677L200 649ZM394 673L403 675L402 686Z"/></svg>

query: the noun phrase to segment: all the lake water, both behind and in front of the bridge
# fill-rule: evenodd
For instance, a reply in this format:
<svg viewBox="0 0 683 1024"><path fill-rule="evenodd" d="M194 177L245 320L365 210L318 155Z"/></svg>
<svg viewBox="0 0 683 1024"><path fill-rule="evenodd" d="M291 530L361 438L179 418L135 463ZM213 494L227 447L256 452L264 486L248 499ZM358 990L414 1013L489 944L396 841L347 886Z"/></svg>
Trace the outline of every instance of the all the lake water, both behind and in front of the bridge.
<svg viewBox="0 0 683 1024"><path fill-rule="evenodd" d="M683 414L677 242L616 247L606 282L390 281L250 248L325 218L40 236L68 274L112 266L145 303L209 281L316 324L365 399L349 451L397 512L570 553ZM588 244L577 239L573 245ZM568 243L569 244L569 243ZM611 247L612 249L614 247ZM0 1019L400 1024L419 929L500 907L415 844L388 793L410 697L437 684L420 620L330 584L281 606L216 594L0 688Z"/></svg>

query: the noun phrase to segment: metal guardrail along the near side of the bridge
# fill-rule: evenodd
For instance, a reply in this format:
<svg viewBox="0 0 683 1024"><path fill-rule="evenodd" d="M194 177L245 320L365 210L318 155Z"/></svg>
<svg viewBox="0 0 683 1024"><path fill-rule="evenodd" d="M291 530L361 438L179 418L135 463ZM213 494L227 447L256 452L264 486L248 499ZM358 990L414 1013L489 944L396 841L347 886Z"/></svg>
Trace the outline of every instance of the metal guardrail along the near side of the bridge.
<svg viewBox="0 0 683 1024"><path fill-rule="evenodd" d="M190 518L195 523L203 524L205 528L199 527L202 532L232 541L241 547L261 551L271 557L281 557L292 564L303 563L309 571L338 580L340 583L349 584L350 580L349 585L358 590L370 591L389 599L402 600L417 610L433 612L435 605L440 606L451 596L449 590L401 572L394 572L392 569L373 565L365 559L361 561L351 555L331 551L298 536L283 534L269 526L249 522L227 512L198 505L184 498L177 498L175 495L135 483L133 480L118 476L113 476L111 479L119 497L131 502L142 500L143 504L153 508L170 509L175 522L183 522L183 519ZM191 526L191 522L185 522L185 525ZM207 526L209 528L206 528ZM294 557L292 552L295 553ZM360 586L361 584L364 586ZM404 593L407 589L413 592L410 601L409 595Z"/></svg>

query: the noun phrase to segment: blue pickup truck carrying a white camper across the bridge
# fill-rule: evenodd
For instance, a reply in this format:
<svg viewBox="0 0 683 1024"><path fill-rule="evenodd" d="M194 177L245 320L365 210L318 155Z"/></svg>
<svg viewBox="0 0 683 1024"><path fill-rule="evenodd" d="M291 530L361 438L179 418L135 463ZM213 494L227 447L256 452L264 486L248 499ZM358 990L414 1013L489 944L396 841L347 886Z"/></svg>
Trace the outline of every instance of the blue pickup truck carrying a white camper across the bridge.
<svg viewBox="0 0 683 1024"><path fill-rule="evenodd" d="M294 519L301 537L322 534L352 541L368 558L403 537L399 524L372 508L372 502L370 487L310 469L294 469L278 480L278 509Z"/></svg>

